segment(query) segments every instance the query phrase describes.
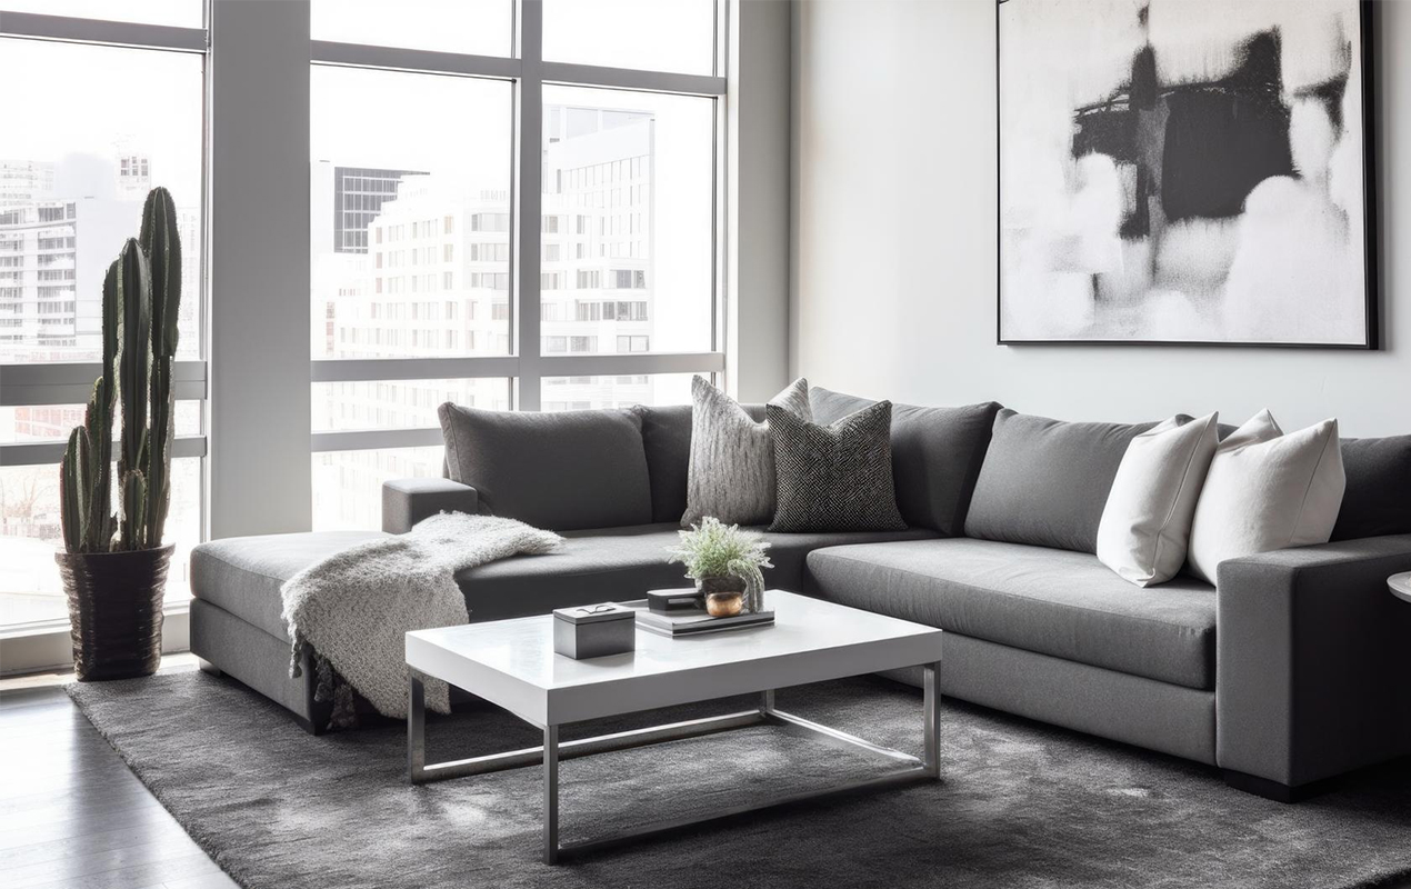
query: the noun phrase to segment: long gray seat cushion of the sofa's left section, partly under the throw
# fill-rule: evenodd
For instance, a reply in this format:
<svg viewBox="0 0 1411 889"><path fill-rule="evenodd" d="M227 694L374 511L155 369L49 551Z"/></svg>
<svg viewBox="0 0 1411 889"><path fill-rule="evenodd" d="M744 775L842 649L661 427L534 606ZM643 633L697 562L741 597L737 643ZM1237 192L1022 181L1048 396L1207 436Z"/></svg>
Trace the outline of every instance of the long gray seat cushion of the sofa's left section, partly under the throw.
<svg viewBox="0 0 1411 889"><path fill-rule="evenodd" d="M514 556L456 576L471 621L547 614L564 605L641 598L648 590L684 587L682 566L667 564L666 548L679 540L676 522L566 532L563 546L542 556ZM382 536L339 531L226 538L202 543L190 555L192 594L270 635L289 641L279 587L298 572L336 552ZM770 533L775 563L765 580L800 590L804 557L820 546L934 536L928 531L895 533Z"/></svg>

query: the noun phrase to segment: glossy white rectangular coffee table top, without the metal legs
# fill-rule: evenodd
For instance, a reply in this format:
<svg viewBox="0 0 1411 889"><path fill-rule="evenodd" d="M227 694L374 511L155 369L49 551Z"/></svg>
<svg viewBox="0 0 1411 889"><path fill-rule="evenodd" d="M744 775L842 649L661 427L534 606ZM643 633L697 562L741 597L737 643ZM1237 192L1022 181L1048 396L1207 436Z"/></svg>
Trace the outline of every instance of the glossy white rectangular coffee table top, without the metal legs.
<svg viewBox="0 0 1411 889"><path fill-rule="evenodd" d="M638 628L636 651L584 660L553 651L552 615L419 629L406 662L545 724L941 659L934 627L780 590L765 607L772 627L679 639Z"/></svg>

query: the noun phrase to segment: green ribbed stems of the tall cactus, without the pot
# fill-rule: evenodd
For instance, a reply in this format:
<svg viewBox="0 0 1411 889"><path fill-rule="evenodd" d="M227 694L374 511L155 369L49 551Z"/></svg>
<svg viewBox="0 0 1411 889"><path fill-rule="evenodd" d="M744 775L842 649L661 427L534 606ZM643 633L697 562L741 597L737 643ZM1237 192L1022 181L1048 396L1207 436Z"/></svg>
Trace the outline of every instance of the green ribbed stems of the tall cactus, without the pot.
<svg viewBox="0 0 1411 889"><path fill-rule="evenodd" d="M143 209L103 281L103 375L59 466L63 545L69 552L161 546L171 504L176 395L172 364L181 308L181 238L164 188ZM113 415L121 401L119 515L113 515ZM116 535L116 540L114 540Z"/></svg>

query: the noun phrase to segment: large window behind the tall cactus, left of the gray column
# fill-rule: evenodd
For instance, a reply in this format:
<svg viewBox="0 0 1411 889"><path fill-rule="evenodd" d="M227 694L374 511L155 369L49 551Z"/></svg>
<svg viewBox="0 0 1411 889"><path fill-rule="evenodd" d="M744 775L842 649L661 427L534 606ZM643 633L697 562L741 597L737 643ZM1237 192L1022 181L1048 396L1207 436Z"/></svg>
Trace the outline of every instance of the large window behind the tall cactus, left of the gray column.
<svg viewBox="0 0 1411 889"><path fill-rule="evenodd" d="M176 200L183 247L166 595L178 607L189 597L206 453L206 32L200 0L0 7L0 634L10 634L68 619L54 563L58 461L99 374L103 275L157 185ZM68 42L66 16L119 21L89 23L83 42Z"/></svg>

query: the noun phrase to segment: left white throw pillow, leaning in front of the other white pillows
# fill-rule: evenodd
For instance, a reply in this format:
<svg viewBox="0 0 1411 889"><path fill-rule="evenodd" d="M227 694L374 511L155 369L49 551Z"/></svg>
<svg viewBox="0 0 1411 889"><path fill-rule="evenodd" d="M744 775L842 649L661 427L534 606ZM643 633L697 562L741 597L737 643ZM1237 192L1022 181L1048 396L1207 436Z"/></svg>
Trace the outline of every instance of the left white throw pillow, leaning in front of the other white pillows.
<svg viewBox="0 0 1411 889"><path fill-rule="evenodd" d="M1218 422L1218 413L1187 423L1173 416L1127 445L1098 525L1098 559L1123 580L1150 587L1185 564Z"/></svg>

